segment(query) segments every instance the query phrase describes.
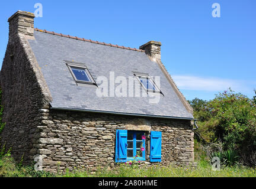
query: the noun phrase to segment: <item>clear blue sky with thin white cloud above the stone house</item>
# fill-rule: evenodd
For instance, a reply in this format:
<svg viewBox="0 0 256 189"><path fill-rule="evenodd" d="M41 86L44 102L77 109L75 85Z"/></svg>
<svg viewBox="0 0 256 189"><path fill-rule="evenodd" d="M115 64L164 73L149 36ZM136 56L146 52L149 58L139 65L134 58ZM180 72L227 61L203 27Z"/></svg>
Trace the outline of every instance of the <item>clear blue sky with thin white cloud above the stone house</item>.
<svg viewBox="0 0 256 189"><path fill-rule="evenodd" d="M256 89L256 1L2 1L0 64L7 19L43 5L39 29L136 47L161 41L162 62L186 99L209 100L231 87L252 97ZM212 4L220 4L220 18ZM0 65L0 66L1 66Z"/></svg>

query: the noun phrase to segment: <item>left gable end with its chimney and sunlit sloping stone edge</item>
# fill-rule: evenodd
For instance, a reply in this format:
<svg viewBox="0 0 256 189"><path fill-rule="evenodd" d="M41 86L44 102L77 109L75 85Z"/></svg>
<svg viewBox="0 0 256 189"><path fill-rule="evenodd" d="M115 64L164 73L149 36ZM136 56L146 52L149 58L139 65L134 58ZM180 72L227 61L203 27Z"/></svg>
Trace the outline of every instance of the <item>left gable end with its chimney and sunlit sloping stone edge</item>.
<svg viewBox="0 0 256 189"><path fill-rule="evenodd" d="M12 148L12 155L20 161L33 162L37 153L42 108L49 108L52 99L36 57L27 38L33 38L33 14L18 11L9 21L9 40L0 73L3 122L1 144ZM22 29L22 30L21 30ZM29 34L29 35L28 35Z"/></svg>

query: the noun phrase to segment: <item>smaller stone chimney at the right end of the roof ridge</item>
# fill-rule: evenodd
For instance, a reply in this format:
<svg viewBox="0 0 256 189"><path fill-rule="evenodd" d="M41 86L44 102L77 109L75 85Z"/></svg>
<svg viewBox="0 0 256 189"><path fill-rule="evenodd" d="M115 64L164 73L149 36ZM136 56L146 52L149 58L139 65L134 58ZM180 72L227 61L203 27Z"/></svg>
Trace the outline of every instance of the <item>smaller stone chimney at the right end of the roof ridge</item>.
<svg viewBox="0 0 256 189"><path fill-rule="evenodd" d="M141 45L139 48L145 50L145 53L151 57L152 61L161 61L161 42L149 41L146 44Z"/></svg>

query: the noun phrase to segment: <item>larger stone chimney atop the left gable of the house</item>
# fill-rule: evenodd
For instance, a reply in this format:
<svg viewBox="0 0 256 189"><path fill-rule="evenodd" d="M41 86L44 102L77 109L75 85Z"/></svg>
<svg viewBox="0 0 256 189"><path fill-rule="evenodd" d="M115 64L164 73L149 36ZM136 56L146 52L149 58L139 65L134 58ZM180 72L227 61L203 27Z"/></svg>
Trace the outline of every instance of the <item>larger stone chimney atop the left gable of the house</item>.
<svg viewBox="0 0 256 189"><path fill-rule="evenodd" d="M23 33L25 35L34 36L34 14L26 11L17 11L9 17L9 39Z"/></svg>

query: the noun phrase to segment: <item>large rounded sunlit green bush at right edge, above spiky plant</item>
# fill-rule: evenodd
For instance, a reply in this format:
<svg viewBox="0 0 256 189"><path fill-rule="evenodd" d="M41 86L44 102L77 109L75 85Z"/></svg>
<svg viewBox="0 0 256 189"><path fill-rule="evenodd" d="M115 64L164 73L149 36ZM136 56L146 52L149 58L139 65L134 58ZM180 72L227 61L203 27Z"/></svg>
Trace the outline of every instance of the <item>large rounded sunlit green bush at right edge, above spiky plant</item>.
<svg viewBox="0 0 256 189"><path fill-rule="evenodd" d="M226 149L252 146L256 141L256 108L254 102L231 89L216 95L207 105L210 117L217 120L215 137Z"/></svg>

